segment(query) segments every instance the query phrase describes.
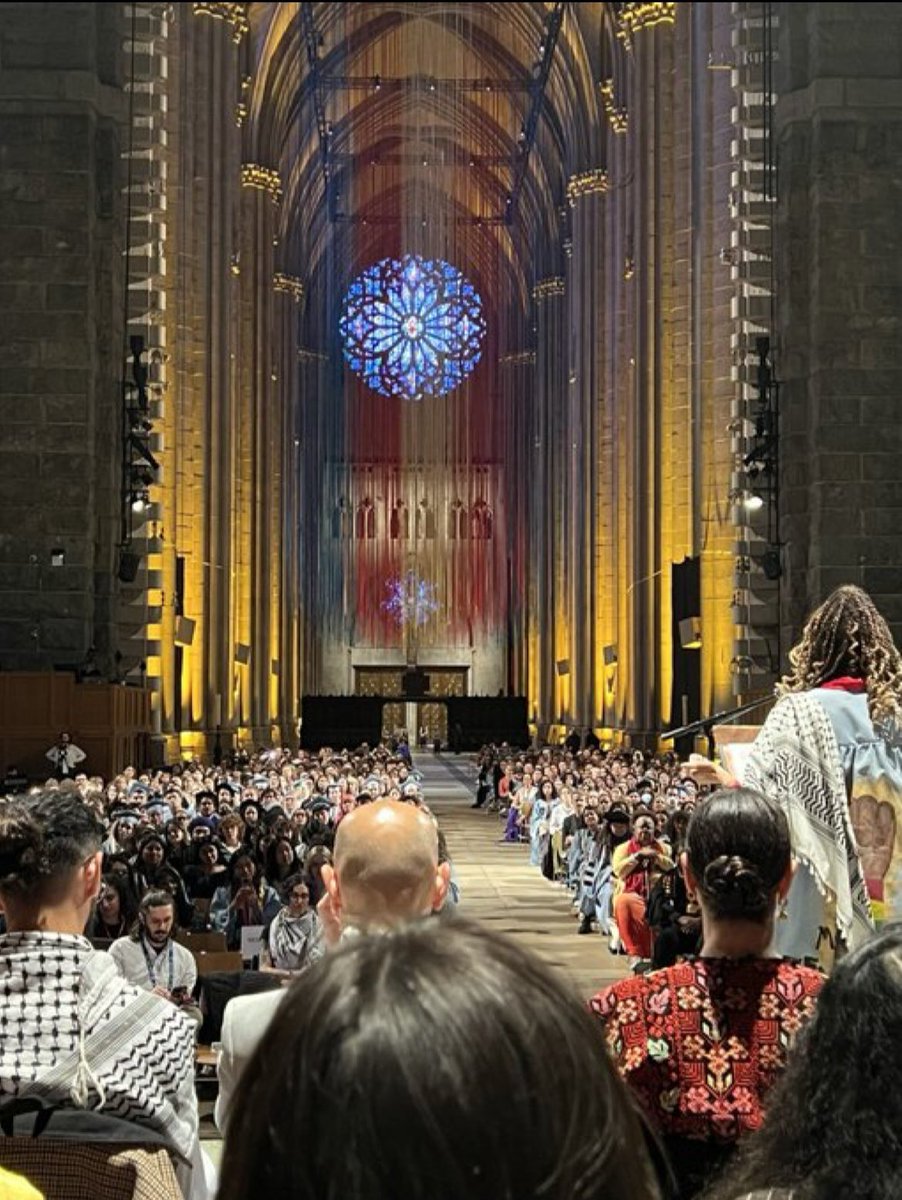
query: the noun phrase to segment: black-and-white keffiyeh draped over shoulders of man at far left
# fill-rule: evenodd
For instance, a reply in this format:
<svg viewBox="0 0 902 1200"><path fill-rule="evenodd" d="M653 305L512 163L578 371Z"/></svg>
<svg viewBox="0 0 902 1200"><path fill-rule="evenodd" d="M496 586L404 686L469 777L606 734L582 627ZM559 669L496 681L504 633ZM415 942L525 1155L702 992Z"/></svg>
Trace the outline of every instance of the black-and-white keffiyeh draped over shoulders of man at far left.
<svg viewBox="0 0 902 1200"><path fill-rule="evenodd" d="M194 1026L71 934L0 937L0 1104L35 1097L197 1140Z"/></svg>

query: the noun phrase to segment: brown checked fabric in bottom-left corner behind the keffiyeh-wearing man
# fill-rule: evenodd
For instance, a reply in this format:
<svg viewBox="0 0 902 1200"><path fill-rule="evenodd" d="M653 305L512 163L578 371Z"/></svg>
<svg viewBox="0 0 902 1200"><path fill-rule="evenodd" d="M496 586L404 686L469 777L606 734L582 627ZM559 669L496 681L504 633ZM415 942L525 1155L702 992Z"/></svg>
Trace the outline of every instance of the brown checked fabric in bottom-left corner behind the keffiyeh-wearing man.
<svg viewBox="0 0 902 1200"><path fill-rule="evenodd" d="M24 1176L44 1200L182 1200L162 1148L0 1138L0 1163Z"/></svg>

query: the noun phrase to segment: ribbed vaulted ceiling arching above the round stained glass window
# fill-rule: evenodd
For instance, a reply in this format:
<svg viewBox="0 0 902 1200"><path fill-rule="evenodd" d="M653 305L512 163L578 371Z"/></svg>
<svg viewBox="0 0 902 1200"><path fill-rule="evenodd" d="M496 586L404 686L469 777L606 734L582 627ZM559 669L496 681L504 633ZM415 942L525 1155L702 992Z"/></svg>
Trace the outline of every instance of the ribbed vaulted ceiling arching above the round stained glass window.
<svg viewBox="0 0 902 1200"><path fill-rule="evenodd" d="M449 256L525 308L569 175L603 166L602 4L252 4L251 154L308 284ZM341 278L343 277L343 278Z"/></svg>

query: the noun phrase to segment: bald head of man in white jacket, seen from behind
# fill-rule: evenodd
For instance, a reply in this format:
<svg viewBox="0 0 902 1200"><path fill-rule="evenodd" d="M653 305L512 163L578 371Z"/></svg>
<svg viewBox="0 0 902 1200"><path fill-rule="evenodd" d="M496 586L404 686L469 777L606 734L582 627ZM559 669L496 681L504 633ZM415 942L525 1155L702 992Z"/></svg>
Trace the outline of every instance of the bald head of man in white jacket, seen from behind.
<svg viewBox="0 0 902 1200"><path fill-rule="evenodd" d="M441 907L447 876L435 822L397 800L349 812L335 838L335 870L323 874L342 924L359 929L390 928Z"/></svg>

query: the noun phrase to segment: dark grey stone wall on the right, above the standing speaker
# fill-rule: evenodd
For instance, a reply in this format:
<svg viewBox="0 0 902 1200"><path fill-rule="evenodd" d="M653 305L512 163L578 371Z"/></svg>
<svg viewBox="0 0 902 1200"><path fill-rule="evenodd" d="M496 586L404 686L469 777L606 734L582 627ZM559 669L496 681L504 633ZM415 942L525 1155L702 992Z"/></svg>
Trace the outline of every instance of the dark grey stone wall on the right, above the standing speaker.
<svg viewBox="0 0 902 1200"><path fill-rule="evenodd" d="M902 7L778 4L782 619L860 583L902 635Z"/></svg>

